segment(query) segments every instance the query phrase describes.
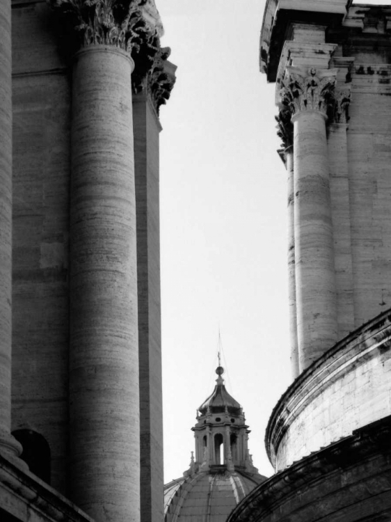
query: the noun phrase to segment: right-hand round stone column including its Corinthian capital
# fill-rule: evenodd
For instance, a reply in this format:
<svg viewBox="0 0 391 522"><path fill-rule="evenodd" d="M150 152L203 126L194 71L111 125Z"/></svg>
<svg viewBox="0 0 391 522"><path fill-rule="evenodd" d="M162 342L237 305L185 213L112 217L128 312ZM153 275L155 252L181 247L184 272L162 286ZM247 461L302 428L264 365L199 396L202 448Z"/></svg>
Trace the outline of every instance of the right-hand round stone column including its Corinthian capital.
<svg viewBox="0 0 391 522"><path fill-rule="evenodd" d="M288 67L282 100L294 122L294 232L299 369L337 340L333 223L331 220L327 109L334 70Z"/></svg>

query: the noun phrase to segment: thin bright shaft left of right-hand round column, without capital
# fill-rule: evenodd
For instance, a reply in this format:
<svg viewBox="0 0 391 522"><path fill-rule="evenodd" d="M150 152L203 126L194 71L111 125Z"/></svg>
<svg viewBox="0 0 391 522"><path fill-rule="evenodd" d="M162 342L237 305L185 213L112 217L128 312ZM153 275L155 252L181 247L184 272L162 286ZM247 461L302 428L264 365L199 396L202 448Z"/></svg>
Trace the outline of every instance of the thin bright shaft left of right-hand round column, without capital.
<svg viewBox="0 0 391 522"><path fill-rule="evenodd" d="M294 157L293 148L285 151L287 164L288 189L288 299L289 299L289 336L291 340L292 377L296 379L300 373L298 365L297 313L296 313L296 266L294 245Z"/></svg>

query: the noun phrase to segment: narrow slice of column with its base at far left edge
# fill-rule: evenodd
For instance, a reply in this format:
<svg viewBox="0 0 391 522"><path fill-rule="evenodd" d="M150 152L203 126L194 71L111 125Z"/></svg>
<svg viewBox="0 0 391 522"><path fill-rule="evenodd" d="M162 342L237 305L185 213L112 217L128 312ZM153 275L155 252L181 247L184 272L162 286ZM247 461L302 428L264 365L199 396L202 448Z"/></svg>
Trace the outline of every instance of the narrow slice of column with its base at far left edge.
<svg viewBox="0 0 391 522"><path fill-rule="evenodd" d="M0 0L0 454L17 459L11 436L12 101L11 3Z"/></svg>

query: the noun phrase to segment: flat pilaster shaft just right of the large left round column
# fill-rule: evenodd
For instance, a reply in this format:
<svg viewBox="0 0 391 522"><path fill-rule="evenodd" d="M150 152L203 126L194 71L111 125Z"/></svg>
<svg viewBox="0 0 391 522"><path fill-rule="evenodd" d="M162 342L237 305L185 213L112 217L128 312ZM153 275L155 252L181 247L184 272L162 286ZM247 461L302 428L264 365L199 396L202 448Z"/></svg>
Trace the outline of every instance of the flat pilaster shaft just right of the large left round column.
<svg viewBox="0 0 391 522"><path fill-rule="evenodd" d="M133 96L136 180L141 522L163 520L159 132L150 95Z"/></svg>

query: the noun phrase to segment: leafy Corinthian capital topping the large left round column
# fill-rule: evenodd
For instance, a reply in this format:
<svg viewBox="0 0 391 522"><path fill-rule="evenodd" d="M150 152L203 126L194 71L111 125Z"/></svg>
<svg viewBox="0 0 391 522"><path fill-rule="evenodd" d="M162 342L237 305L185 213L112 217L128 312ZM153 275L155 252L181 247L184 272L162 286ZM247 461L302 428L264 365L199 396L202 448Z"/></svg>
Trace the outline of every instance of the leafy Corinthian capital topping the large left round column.
<svg viewBox="0 0 391 522"><path fill-rule="evenodd" d="M77 47L112 45L129 52L157 52L163 33L154 0L50 0L64 15L67 32L73 31Z"/></svg>

